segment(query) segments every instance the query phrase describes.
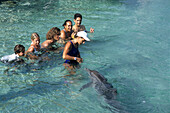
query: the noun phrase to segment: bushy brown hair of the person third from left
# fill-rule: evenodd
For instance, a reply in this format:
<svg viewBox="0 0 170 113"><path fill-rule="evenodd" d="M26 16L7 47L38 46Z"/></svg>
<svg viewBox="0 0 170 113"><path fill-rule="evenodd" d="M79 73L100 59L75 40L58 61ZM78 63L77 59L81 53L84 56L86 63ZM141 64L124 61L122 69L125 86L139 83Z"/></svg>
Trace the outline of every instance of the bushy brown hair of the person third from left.
<svg viewBox="0 0 170 113"><path fill-rule="evenodd" d="M58 27L53 27L47 32L46 39L47 40L54 39L54 36L58 34L60 34L60 29Z"/></svg>

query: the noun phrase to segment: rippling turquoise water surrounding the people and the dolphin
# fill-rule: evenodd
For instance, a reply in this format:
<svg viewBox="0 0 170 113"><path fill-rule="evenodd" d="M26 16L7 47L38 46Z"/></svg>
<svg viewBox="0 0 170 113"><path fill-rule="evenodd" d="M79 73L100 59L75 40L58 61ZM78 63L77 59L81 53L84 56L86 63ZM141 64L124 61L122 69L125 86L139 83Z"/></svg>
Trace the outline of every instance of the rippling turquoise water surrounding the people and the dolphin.
<svg viewBox="0 0 170 113"><path fill-rule="evenodd" d="M68 77L61 53L50 61L22 65L0 63L2 113L169 113L169 0L18 0L0 4L0 57L16 44L28 49L31 33L41 42L47 31L63 29L66 19L83 15L91 42L80 46L84 63ZM103 74L117 88L122 109L109 106L89 82L84 68ZM9 68L9 69L8 69ZM8 69L8 71L7 71ZM71 82L71 83L70 83Z"/></svg>

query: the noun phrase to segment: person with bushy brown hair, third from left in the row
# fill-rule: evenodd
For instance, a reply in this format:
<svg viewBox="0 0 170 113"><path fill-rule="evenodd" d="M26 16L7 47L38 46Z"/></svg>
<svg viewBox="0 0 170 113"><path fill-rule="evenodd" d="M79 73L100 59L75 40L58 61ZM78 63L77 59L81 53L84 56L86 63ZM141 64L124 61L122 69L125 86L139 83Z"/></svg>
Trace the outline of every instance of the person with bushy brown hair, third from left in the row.
<svg viewBox="0 0 170 113"><path fill-rule="evenodd" d="M57 43L64 43L59 38L60 36L60 29L57 27L51 28L46 34L46 41L41 44L41 48L46 50L55 50L57 48L53 47L53 45Z"/></svg>

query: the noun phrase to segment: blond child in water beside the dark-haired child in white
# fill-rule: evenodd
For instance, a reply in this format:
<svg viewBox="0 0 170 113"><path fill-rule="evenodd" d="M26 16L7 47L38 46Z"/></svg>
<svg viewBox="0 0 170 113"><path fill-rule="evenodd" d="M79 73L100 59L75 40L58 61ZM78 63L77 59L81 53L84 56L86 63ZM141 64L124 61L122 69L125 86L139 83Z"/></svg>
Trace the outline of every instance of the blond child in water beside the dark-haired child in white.
<svg viewBox="0 0 170 113"><path fill-rule="evenodd" d="M26 51L26 55L30 58L30 59L38 59L38 52L41 49L41 45L40 45L40 37L37 33L32 33L31 35L31 46L28 48L28 50Z"/></svg>

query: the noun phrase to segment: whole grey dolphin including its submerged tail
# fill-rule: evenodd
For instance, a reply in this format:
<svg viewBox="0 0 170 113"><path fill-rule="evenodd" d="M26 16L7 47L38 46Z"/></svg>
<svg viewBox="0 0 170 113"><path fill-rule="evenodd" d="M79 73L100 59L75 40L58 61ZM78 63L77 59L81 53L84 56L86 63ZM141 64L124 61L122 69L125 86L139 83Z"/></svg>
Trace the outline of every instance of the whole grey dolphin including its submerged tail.
<svg viewBox="0 0 170 113"><path fill-rule="evenodd" d="M83 85L79 91L82 91L85 88L93 87L100 95L104 97L104 100L107 104L114 108L109 108L111 112L121 112L127 113L124 111L124 107L121 106L120 102L116 100L117 89L112 86L112 84L108 83L107 78L101 75L99 72L95 70L90 70L85 68L85 70L90 75L89 78L91 81L85 85Z"/></svg>

